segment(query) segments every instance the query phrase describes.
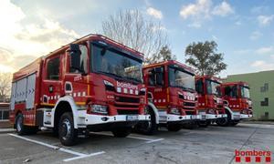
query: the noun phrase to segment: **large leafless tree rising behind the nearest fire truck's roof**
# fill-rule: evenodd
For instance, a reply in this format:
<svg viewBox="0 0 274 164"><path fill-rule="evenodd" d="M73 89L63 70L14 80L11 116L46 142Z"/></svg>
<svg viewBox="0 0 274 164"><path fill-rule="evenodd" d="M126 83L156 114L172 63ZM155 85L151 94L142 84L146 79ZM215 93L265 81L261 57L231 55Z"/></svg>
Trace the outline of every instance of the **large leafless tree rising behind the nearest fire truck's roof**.
<svg viewBox="0 0 274 164"><path fill-rule="evenodd" d="M145 20L139 10L118 11L102 22L102 31L125 46L142 52L145 63L151 63L154 55L167 45L167 37L161 23Z"/></svg>

